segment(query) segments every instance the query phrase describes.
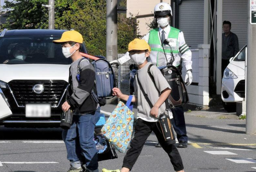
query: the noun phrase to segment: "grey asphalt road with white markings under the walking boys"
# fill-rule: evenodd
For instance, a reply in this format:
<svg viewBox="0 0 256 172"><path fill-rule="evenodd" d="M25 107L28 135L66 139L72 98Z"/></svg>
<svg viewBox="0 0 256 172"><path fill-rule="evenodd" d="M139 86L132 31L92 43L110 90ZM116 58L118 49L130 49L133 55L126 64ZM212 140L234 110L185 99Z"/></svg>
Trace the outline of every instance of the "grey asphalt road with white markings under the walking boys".
<svg viewBox="0 0 256 172"><path fill-rule="evenodd" d="M110 112L111 108L103 110ZM210 119L196 113L185 115L190 144L178 149L186 172L256 171L256 136L245 134L245 120ZM152 133L132 171L174 171L167 154L162 148L155 148L156 142ZM118 153L118 159L100 162L99 170L120 168L124 155ZM0 172L68 169L61 129L0 127Z"/></svg>

